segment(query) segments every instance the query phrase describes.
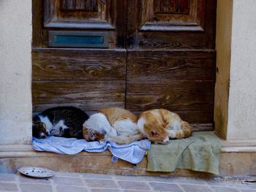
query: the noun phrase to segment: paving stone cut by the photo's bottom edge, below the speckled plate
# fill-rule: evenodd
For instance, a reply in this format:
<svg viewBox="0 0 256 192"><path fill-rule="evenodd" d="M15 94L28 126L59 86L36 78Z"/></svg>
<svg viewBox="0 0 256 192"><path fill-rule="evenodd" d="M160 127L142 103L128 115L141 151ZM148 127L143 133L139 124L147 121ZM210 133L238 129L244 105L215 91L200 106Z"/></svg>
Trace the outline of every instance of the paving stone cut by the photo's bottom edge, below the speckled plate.
<svg viewBox="0 0 256 192"><path fill-rule="evenodd" d="M35 184L35 183L22 183L20 184L20 189L23 192L51 192L53 189L50 185L45 184Z"/></svg>

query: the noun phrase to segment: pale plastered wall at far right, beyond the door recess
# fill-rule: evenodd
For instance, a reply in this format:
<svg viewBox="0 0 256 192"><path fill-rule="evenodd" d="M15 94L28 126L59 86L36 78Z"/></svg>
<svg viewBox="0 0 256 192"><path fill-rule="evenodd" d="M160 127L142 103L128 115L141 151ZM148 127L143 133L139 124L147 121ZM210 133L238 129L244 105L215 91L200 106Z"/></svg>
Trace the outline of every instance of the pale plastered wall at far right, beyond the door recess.
<svg viewBox="0 0 256 192"><path fill-rule="evenodd" d="M228 140L256 141L255 10L255 0L233 0Z"/></svg>

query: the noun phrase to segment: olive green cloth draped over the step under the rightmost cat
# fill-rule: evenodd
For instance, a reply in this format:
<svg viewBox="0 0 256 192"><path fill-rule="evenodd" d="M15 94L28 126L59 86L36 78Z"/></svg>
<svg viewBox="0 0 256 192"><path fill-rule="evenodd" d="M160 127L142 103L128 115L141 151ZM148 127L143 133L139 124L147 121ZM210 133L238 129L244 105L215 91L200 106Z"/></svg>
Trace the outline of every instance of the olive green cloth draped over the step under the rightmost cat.
<svg viewBox="0 0 256 192"><path fill-rule="evenodd" d="M212 131L194 132L187 139L173 139L168 145L152 144L148 151L149 172L192 169L219 174L221 139Z"/></svg>

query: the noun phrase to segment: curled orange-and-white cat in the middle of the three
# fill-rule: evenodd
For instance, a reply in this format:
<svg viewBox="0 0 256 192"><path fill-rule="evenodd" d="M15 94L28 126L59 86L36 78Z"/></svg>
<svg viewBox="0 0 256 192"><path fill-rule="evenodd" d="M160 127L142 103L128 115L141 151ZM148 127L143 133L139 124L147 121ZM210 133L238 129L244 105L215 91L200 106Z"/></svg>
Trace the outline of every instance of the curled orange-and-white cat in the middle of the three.
<svg viewBox="0 0 256 192"><path fill-rule="evenodd" d="M89 142L111 140L118 144L128 144L143 138L138 131L137 119L128 110L104 108L83 123L83 137Z"/></svg>

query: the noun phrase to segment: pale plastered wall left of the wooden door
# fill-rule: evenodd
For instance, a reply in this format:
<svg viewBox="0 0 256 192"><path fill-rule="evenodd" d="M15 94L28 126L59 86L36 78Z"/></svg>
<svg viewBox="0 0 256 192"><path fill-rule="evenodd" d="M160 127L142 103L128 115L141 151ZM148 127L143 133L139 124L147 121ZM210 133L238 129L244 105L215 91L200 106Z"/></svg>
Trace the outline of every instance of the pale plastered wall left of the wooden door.
<svg viewBox="0 0 256 192"><path fill-rule="evenodd" d="M31 140L31 0L0 0L0 144Z"/></svg>

